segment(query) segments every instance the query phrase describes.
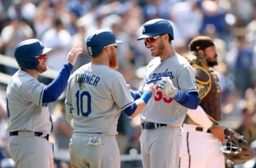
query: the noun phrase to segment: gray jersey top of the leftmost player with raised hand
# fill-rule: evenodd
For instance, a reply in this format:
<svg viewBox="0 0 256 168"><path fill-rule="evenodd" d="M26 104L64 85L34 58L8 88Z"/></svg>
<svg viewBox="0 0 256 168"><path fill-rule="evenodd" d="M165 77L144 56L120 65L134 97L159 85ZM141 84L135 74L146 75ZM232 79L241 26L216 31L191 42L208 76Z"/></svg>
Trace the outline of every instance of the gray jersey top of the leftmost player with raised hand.
<svg viewBox="0 0 256 168"><path fill-rule="evenodd" d="M7 131L51 133L48 103L42 103L45 87L25 71L13 75L6 90Z"/></svg>

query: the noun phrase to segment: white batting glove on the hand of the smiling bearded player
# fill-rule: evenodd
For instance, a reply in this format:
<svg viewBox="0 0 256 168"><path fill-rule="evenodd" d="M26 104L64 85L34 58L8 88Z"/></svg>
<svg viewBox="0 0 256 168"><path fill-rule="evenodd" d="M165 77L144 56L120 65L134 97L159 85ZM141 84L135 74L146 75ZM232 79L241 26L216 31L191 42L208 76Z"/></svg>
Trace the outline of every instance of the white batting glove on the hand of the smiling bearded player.
<svg viewBox="0 0 256 168"><path fill-rule="evenodd" d="M171 98L176 96L178 93L178 89L173 86L172 80L169 77L162 77L157 90Z"/></svg>

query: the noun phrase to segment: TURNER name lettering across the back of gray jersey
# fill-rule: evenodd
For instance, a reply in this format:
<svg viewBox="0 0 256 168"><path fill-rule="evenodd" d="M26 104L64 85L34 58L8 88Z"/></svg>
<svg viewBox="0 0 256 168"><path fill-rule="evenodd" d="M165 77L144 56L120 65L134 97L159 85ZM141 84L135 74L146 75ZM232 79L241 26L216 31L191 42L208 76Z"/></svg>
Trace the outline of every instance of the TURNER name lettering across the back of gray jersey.
<svg viewBox="0 0 256 168"><path fill-rule="evenodd" d="M89 73L78 73L75 75L75 80L77 83L87 83L97 87L97 83L100 81L100 77Z"/></svg>

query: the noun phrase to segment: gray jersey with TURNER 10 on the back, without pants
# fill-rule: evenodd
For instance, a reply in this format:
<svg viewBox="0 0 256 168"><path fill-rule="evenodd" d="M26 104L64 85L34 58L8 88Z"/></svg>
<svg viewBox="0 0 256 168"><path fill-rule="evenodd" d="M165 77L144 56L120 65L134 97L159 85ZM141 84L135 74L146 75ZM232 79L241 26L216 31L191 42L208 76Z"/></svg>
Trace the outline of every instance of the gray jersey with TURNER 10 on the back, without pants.
<svg viewBox="0 0 256 168"><path fill-rule="evenodd" d="M83 65L68 81L66 105L73 108L74 132L116 135L120 110L133 103L123 75L107 65Z"/></svg>

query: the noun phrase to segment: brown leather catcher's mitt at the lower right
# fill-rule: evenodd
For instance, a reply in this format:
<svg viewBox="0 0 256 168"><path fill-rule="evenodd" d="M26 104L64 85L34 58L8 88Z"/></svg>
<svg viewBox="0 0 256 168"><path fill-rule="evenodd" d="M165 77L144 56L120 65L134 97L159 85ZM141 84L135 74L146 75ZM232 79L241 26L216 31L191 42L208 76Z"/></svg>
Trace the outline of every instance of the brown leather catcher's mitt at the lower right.
<svg viewBox="0 0 256 168"><path fill-rule="evenodd" d="M251 159L252 152L244 136L236 131L225 129L226 144L222 144L222 152L234 164L240 164Z"/></svg>

